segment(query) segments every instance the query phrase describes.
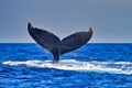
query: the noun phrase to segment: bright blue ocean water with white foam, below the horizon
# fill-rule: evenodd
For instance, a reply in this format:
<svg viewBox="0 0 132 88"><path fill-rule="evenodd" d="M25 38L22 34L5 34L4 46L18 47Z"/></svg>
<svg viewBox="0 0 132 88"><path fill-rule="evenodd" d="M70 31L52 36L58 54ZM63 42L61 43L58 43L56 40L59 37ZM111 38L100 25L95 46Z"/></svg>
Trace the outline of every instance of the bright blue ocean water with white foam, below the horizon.
<svg viewBox="0 0 132 88"><path fill-rule="evenodd" d="M88 43L52 61L35 43L1 43L0 88L132 88L131 43Z"/></svg>

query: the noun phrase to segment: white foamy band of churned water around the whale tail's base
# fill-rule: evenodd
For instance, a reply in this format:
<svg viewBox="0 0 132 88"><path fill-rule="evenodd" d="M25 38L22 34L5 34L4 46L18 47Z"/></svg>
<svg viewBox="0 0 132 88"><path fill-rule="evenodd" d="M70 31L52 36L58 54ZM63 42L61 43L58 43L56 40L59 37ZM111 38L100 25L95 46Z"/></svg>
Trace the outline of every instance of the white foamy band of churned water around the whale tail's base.
<svg viewBox="0 0 132 88"><path fill-rule="evenodd" d="M40 68L55 68L63 70L76 72L96 72L96 73L110 73L110 74L124 74L132 75L131 62L79 62L76 59L63 59L59 64L53 64L52 61L25 61L25 62L3 62L3 65L19 66L25 65L29 67Z"/></svg>

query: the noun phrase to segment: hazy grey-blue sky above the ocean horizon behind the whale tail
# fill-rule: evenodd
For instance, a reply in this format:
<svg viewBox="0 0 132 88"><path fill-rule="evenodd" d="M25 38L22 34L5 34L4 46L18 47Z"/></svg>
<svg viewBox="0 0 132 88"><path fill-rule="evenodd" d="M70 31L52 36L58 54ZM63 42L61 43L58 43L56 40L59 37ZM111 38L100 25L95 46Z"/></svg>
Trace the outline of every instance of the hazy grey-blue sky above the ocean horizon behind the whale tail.
<svg viewBox="0 0 132 88"><path fill-rule="evenodd" d="M34 43L29 22L59 38L91 26L89 43L132 43L132 0L0 0L0 43Z"/></svg>

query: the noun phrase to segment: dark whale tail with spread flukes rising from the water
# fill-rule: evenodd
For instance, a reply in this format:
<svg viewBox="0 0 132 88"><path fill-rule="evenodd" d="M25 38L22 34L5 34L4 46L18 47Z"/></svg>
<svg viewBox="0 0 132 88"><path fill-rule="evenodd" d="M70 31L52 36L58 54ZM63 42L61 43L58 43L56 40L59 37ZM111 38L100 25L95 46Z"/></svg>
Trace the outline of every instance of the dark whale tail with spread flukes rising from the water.
<svg viewBox="0 0 132 88"><path fill-rule="evenodd" d="M44 48L48 50L54 56L54 63L59 62L59 56L70 51L77 50L86 44L92 36L92 29L89 28L87 32L77 32L62 41L53 33L33 28L31 23L28 24L30 35Z"/></svg>

